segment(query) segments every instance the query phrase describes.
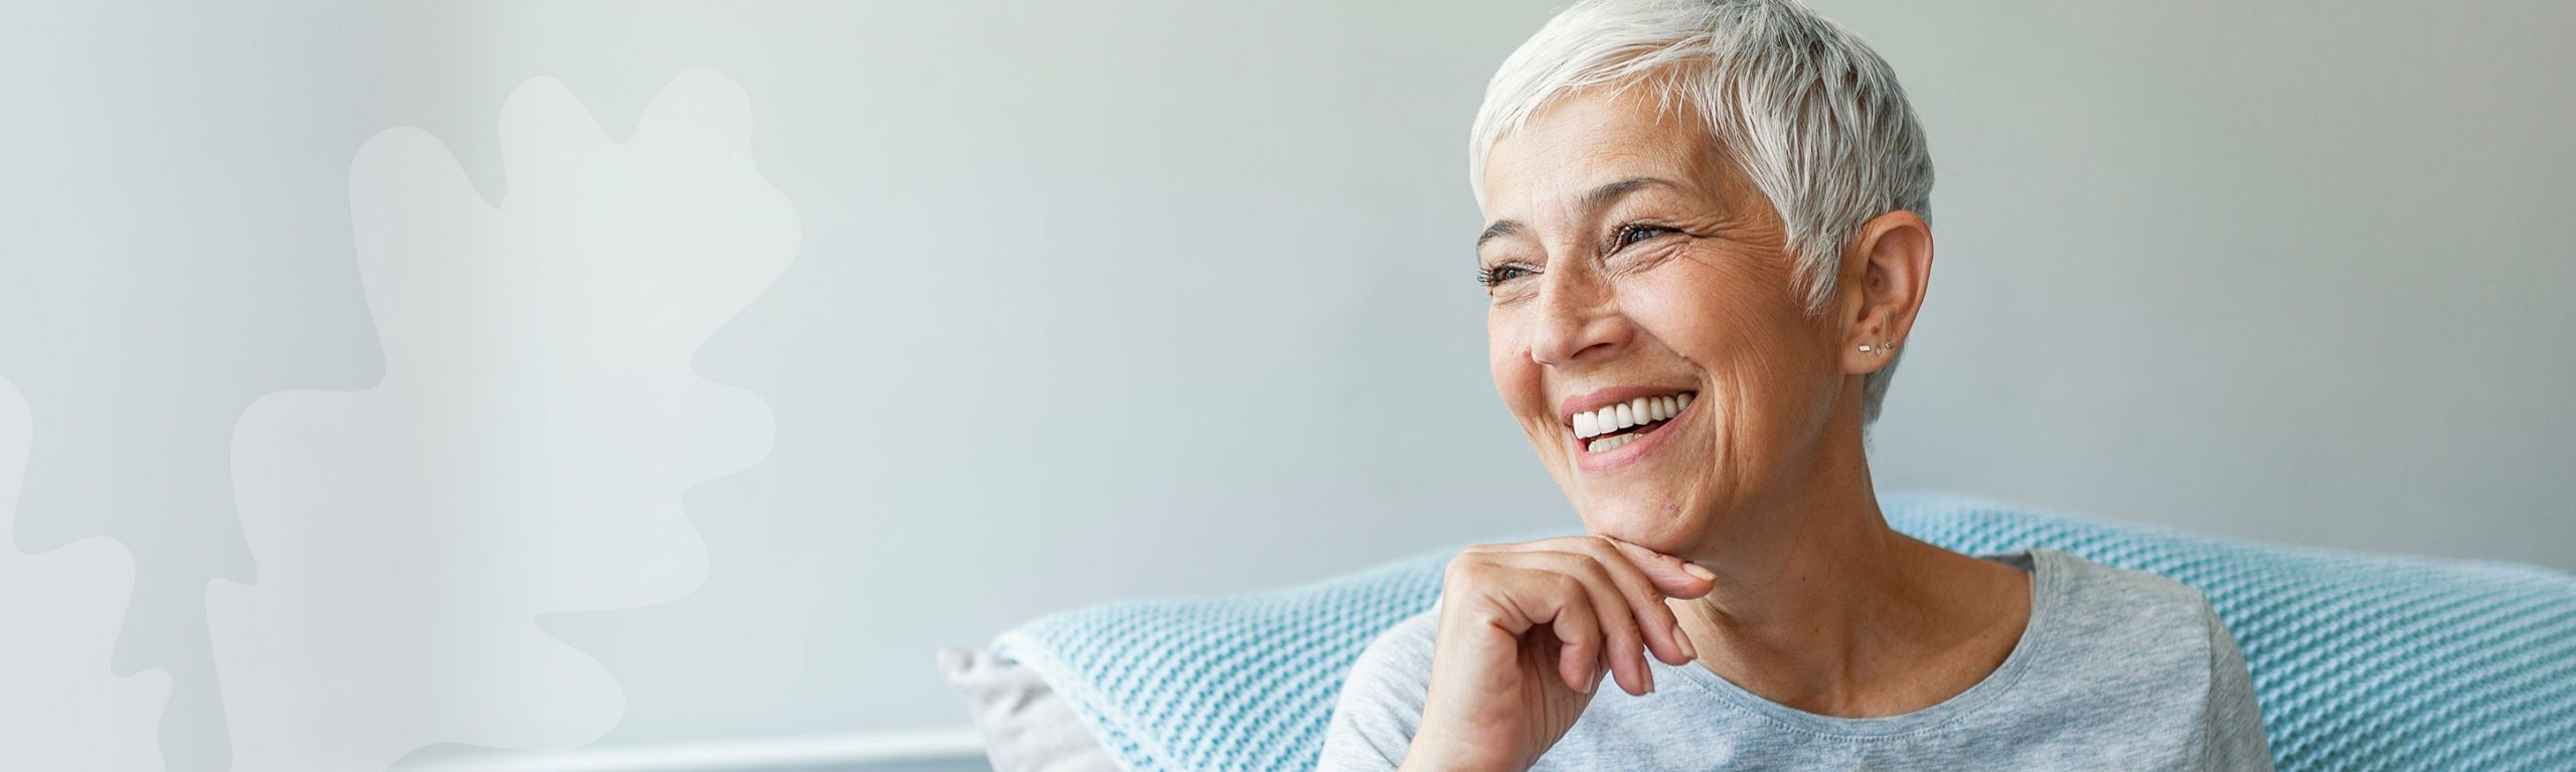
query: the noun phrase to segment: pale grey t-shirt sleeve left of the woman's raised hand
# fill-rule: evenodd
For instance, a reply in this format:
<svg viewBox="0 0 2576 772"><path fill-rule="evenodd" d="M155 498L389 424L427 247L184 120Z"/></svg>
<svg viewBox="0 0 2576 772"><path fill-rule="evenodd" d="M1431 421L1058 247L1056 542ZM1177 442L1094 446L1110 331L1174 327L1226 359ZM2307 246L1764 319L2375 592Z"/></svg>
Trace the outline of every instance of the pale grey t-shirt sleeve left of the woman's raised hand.
<svg viewBox="0 0 2576 772"><path fill-rule="evenodd" d="M1383 772L1404 764L1422 726L1422 697L1430 695L1432 612L1396 623L1350 664L1342 697L1324 728L1321 772Z"/></svg>

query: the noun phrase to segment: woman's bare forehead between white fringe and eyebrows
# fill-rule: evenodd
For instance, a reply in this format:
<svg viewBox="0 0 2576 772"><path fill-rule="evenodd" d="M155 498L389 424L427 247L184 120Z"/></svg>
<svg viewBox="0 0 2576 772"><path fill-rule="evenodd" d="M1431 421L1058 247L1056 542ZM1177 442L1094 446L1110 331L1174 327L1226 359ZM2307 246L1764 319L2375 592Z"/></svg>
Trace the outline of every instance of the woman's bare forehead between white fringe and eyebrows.
<svg viewBox="0 0 2576 772"><path fill-rule="evenodd" d="M1589 87L1504 131L1484 160L1484 193L1489 216L1517 219L1571 206L1615 180L1659 178L1718 193L1723 175L1698 111L1664 108L1649 87Z"/></svg>

